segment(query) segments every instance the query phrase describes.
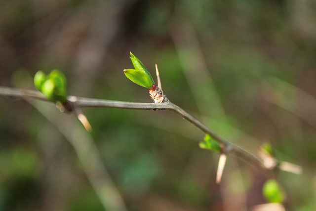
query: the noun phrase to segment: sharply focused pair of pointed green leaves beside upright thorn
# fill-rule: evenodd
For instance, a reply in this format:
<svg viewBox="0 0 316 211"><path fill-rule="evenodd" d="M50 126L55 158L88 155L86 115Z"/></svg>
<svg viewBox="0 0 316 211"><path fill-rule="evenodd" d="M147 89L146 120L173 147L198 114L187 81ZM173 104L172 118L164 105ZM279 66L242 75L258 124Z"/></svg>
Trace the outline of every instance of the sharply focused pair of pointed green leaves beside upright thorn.
<svg viewBox="0 0 316 211"><path fill-rule="evenodd" d="M130 59L135 69L125 69L123 71L125 76L135 84L151 88L155 82L145 65L132 52L130 52Z"/></svg>

